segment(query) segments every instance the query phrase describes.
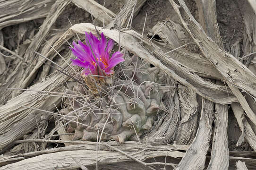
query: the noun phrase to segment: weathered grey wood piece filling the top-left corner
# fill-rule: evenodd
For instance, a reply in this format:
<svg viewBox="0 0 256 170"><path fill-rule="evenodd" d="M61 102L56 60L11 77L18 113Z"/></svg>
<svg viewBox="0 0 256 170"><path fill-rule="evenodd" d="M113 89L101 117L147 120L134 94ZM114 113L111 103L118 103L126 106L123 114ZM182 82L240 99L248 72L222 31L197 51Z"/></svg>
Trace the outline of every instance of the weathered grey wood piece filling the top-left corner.
<svg viewBox="0 0 256 170"><path fill-rule="evenodd" d="M33 19L46 17L55 0L1 0L0 30Z"/></svg>

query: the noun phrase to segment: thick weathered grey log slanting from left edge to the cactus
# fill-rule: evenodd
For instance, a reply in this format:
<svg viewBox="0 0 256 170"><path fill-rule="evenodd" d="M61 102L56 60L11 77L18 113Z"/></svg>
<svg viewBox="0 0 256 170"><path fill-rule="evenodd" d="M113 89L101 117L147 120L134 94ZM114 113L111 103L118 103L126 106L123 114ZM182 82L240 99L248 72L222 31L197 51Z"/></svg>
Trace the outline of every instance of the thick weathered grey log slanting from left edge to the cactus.
<svg viewBox="0 0 256 170"><path fill-rule="evenodd" d="M70 53L66 57L69 58ZM13 141L32 131L37 127L37 122L43 119L42 114L44 113L27 107L53 110L55 105L60 104L61 97L42 94L58 92L65 83L65 79L68 78L56 72L29 89L35 91L27 90L0 107L0 153L6 150Z"/></svg>

